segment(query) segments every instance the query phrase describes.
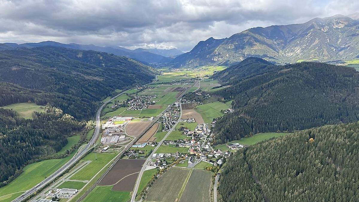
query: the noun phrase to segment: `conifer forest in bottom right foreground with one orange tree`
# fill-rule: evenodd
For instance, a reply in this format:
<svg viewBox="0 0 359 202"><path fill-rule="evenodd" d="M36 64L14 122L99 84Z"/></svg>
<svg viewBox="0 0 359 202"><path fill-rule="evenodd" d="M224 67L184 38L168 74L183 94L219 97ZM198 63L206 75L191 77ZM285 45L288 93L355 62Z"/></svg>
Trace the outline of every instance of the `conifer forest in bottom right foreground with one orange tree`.
<svg viewBox="0 0 359 202"><path fill-rule="evenodd" d="M359 201L359 122L326 125L236 152L223 201Z"/></svg>

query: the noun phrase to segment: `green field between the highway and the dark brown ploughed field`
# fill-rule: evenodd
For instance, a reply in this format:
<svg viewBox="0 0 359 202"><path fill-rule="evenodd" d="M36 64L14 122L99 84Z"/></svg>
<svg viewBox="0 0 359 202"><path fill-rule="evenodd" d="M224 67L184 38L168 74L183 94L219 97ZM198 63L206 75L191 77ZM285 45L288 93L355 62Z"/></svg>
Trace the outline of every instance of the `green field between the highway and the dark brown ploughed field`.
<svg viewBox="0 0 359 202"><path fill-rule="evenodd" d="M92 161L83 169L78 171L70 179L72 180L90 180L103 166L105 166L111 159L113 159L116 153L89 153L79 164L83 161Z"/></svg>

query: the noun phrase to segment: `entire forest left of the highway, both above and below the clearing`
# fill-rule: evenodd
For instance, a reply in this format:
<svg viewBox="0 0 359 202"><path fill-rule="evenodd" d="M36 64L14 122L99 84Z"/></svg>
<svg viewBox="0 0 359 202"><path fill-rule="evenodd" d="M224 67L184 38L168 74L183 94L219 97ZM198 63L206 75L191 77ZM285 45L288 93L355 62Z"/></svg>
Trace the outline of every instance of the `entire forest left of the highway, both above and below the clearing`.
<svg viewBox="0 0 359 202"><path fill-rule="evenodd" d="M115 89L151 82L157 70L96 51L38 47L0 51L0 106L46 105L33 119L0 108L0 186L23 166L61 150Z"/></svg>

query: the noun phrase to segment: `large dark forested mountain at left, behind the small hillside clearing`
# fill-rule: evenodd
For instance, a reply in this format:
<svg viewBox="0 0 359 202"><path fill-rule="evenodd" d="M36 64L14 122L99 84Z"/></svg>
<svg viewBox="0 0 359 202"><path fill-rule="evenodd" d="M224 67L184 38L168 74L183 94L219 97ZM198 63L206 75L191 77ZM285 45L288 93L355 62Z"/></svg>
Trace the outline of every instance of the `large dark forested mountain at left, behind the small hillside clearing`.
<svg viewBox="0 0 359 202"><path fill-rule="evenodd" d="M81 101L92 106L93 102L110 95L115 89L141 86L151 82L157 73L156 70L137 61L104 52L59 47L0 51L1 82L24 87L21 90L7 91L8 88L19 88L19 86L2 83L3 91L7 91L7 93L1 95L0 106L19 102L10 99L13 96L17 97L19 91L33 90L38 90L37 93L42 91L41 98L38 95L31 95L31 93L22 93L23 97L20 100L26 101L24 97L26 94L32 97L28 100L44 104L44 101L40 100L45 99L48 102L49 99L44 97L46 94L53 99L64 98L64 102L74 99L76 100L74 103ZM34 96L37 96L37 99ZM52 102L55 102L53 99L51 99ZM71 102L59 102L55 106L71 105ZM82 118L90 115L86 111L82 115L73 114L67 108L61 107L66 113L75 117ZM84 108L87 108L86 105ZM94 107L90 108L94 110ZM94 114L95 111L90 113Z"/></svg>

